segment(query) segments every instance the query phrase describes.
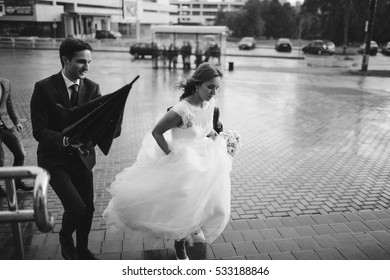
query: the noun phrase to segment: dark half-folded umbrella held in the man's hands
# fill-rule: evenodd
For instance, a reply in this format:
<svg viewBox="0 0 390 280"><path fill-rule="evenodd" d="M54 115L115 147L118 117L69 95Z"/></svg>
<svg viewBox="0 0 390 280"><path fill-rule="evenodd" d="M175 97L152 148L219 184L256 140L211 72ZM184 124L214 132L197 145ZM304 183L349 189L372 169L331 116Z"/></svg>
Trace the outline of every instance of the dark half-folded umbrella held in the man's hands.
<svg viewBox="0 0 390 280"><path fill-rule="evenodd" d="M107 155L114 138L121 132L126 99L135 79L117 91L72 108L62 108L64 121L70 124L62 133L72 141L98 145Z"/></svg>

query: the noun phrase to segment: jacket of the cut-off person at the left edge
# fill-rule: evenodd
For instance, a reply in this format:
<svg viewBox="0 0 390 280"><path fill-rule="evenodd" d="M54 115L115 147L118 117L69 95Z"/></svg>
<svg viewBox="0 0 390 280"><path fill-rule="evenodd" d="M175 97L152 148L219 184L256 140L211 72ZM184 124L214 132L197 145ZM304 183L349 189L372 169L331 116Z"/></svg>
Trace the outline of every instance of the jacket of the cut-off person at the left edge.
<svg viewBox="0 0 390 280"><path fill-rule="evenodd" d="M2 96L0 99L0 121L6 128L12 129L19 123L19 119L15 113L11 98L11 83L7 79L0 78L0 86L2 88Z"/></svg>

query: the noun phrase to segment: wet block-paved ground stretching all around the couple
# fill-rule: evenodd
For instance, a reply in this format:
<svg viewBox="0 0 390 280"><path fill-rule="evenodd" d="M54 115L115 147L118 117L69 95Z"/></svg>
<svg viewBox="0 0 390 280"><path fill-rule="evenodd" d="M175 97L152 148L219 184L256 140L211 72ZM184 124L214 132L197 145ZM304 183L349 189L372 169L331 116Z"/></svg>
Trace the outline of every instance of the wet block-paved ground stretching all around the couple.
<svg viewBox="0 0 390 280"><path fill-rule="evenodd" d="M26 165L36 165L29 101L34 83L60 70L57 51L2 49L0 64L24 121ZM231 222L213 244L193 244L192 258L390 258L390 81L348 75L348 68L310 67L307 60L235 58L235 64L216 97L225 129L238 130L243 144L231 173ZM98 153L91 249L107 259L171 259L171 243L110 234L101 219L110 199L105 189L134 162L156 118L178 100L175 84L190 72L154 70L150 61L128 54L96 52L89 73L103 94L136 75L141 78L127 101L122 135L108 156ZM31 206L31 194L18 193L18 199L21 207ZM0 202L6 209L5 199ZM51 190L49 210L52 233L23 224L27 259L61 259L62 207ZM15 258L7 224L0 224L0 248L0 259Z"/></svg>

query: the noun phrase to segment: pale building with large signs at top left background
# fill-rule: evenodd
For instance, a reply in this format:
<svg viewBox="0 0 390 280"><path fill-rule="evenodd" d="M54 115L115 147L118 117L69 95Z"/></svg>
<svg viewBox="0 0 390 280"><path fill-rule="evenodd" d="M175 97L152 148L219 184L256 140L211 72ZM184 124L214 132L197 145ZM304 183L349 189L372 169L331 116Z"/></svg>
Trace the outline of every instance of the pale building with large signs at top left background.
<svg viewBox="0 0 390 280"><path fill-rule="evenodd" d="M94 37L97 30L135 36L172 24L169 0L0 0L0 36Z"/></svg>

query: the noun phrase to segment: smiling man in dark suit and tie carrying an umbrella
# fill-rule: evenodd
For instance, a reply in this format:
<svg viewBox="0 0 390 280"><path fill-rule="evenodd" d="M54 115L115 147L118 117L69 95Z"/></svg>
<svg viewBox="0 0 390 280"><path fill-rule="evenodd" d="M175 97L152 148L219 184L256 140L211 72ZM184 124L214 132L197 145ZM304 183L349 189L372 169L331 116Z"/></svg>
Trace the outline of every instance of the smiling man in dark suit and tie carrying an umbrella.
<svg viewBox="0 0 390 280"><path fill-rule="evenodd" d="M88 249L95 210L92 174L95 150L62 134L68 124L62 119L58 104L70 108L86 103L101 96L100 87L85 77L92 61L92 47L87 42L67 38L59 52L61 71L35 84L30 103L33 136L39 142L38 166L49 171L50 185L64 207L59 233L63 258L99 259ZM88 153L80 154L81 145L87 146Z"/></svg>

